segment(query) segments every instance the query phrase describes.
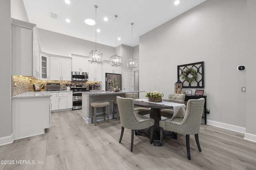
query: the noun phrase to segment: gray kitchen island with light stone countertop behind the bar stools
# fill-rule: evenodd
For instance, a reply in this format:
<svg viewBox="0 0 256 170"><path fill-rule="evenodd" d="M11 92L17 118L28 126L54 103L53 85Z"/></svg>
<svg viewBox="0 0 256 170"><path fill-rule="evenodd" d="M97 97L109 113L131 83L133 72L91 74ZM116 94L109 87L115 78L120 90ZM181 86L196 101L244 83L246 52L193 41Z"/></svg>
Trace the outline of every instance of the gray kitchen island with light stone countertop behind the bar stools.
<svg viewBox="0 0 256 170"><path fill-rule="evenodd" d="M91 123L91 103L92 102L100 102L107 101L110 103L109 105L109 117L112 119L112 101L116 100L116 96L120 96L125 98L125 93L132 92L145 92L145 91L119 91L119 92L110 92L110 91L93 91L93 92L82 92L82 114L83 118L87 123ZM102 108L98 108L100 110ZM103 109L102 109L103 112Z"/></svg>

